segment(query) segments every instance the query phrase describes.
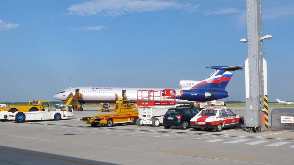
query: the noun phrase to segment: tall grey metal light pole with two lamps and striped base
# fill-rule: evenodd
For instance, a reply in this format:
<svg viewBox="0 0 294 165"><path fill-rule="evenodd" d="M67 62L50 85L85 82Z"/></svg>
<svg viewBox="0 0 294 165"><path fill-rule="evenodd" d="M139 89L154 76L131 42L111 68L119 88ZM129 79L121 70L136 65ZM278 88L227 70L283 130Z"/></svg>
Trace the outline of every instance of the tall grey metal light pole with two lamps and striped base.
<svg viewBox="0 0 294 165"><path fill-rule="evenodd" d="M247 20L248 40L240 40L248 42L248 59L245 61L246 131L261 132L268 125L263 113L267 109L264 106L264 100L267 99L267 81L264 76L267 73L262 40L272 38L269 35L262 37L261 0L247 0Z"/></svg>

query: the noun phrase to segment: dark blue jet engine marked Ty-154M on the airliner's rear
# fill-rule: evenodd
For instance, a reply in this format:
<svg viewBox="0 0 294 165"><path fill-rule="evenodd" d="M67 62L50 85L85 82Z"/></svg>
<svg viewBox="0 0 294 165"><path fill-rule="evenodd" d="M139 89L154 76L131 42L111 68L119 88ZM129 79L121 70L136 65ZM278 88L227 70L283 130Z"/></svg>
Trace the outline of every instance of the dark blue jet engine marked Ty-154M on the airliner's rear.
<svg viewBox="0 0 294 165"><path fill-rule="evenodd" d="M201 90L181 90L181 99L206 99L211 97L209 92L204 92Z"/></svg>

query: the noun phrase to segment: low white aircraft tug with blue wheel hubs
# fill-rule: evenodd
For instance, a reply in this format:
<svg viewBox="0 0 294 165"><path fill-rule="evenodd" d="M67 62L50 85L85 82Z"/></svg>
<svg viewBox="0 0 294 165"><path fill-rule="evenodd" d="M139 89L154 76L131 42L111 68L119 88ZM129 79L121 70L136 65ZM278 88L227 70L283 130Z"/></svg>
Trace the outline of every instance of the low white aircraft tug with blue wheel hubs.
<svg viewBox="0 0 294 165"><path fill-rule="evenodd" d="M14 112L9 120L21 123L29 120L60 120L74 117L72 105L51 105L49 110L33 112Z"/></svg>

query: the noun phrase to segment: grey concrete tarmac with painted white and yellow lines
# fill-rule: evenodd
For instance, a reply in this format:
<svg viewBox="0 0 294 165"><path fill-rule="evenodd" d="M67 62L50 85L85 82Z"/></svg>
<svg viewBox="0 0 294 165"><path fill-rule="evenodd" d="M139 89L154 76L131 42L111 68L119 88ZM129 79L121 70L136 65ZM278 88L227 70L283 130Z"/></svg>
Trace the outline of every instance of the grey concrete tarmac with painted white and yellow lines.
<svg viewBox="0 0 294 165"><path fill-rule="evenodd" d="M80 121L80 117L96 116L97 109L74 111L74 118L59 121L0 122L0 164L284 165L293 162L294 132L248 133L245 125L221 132L132 124L107 128L91 127ZM245 108L230 109L237 115L246 115ZM269 108L269 114L272 109Z"/></svg>

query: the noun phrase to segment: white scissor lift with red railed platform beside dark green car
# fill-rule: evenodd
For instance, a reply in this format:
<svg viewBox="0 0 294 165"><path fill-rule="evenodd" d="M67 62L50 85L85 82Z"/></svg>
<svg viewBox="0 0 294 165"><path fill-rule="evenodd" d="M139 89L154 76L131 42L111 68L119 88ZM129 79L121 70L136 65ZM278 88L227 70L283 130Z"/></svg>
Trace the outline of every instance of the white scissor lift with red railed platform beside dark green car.
<svg viewBox="0 0 294 165"><path fill-rule="evenodd" d="M152 124L153 127L159 127L163 123L163 115L176 104L175 90L138 90L137 93L138 126Z"/></svg>

